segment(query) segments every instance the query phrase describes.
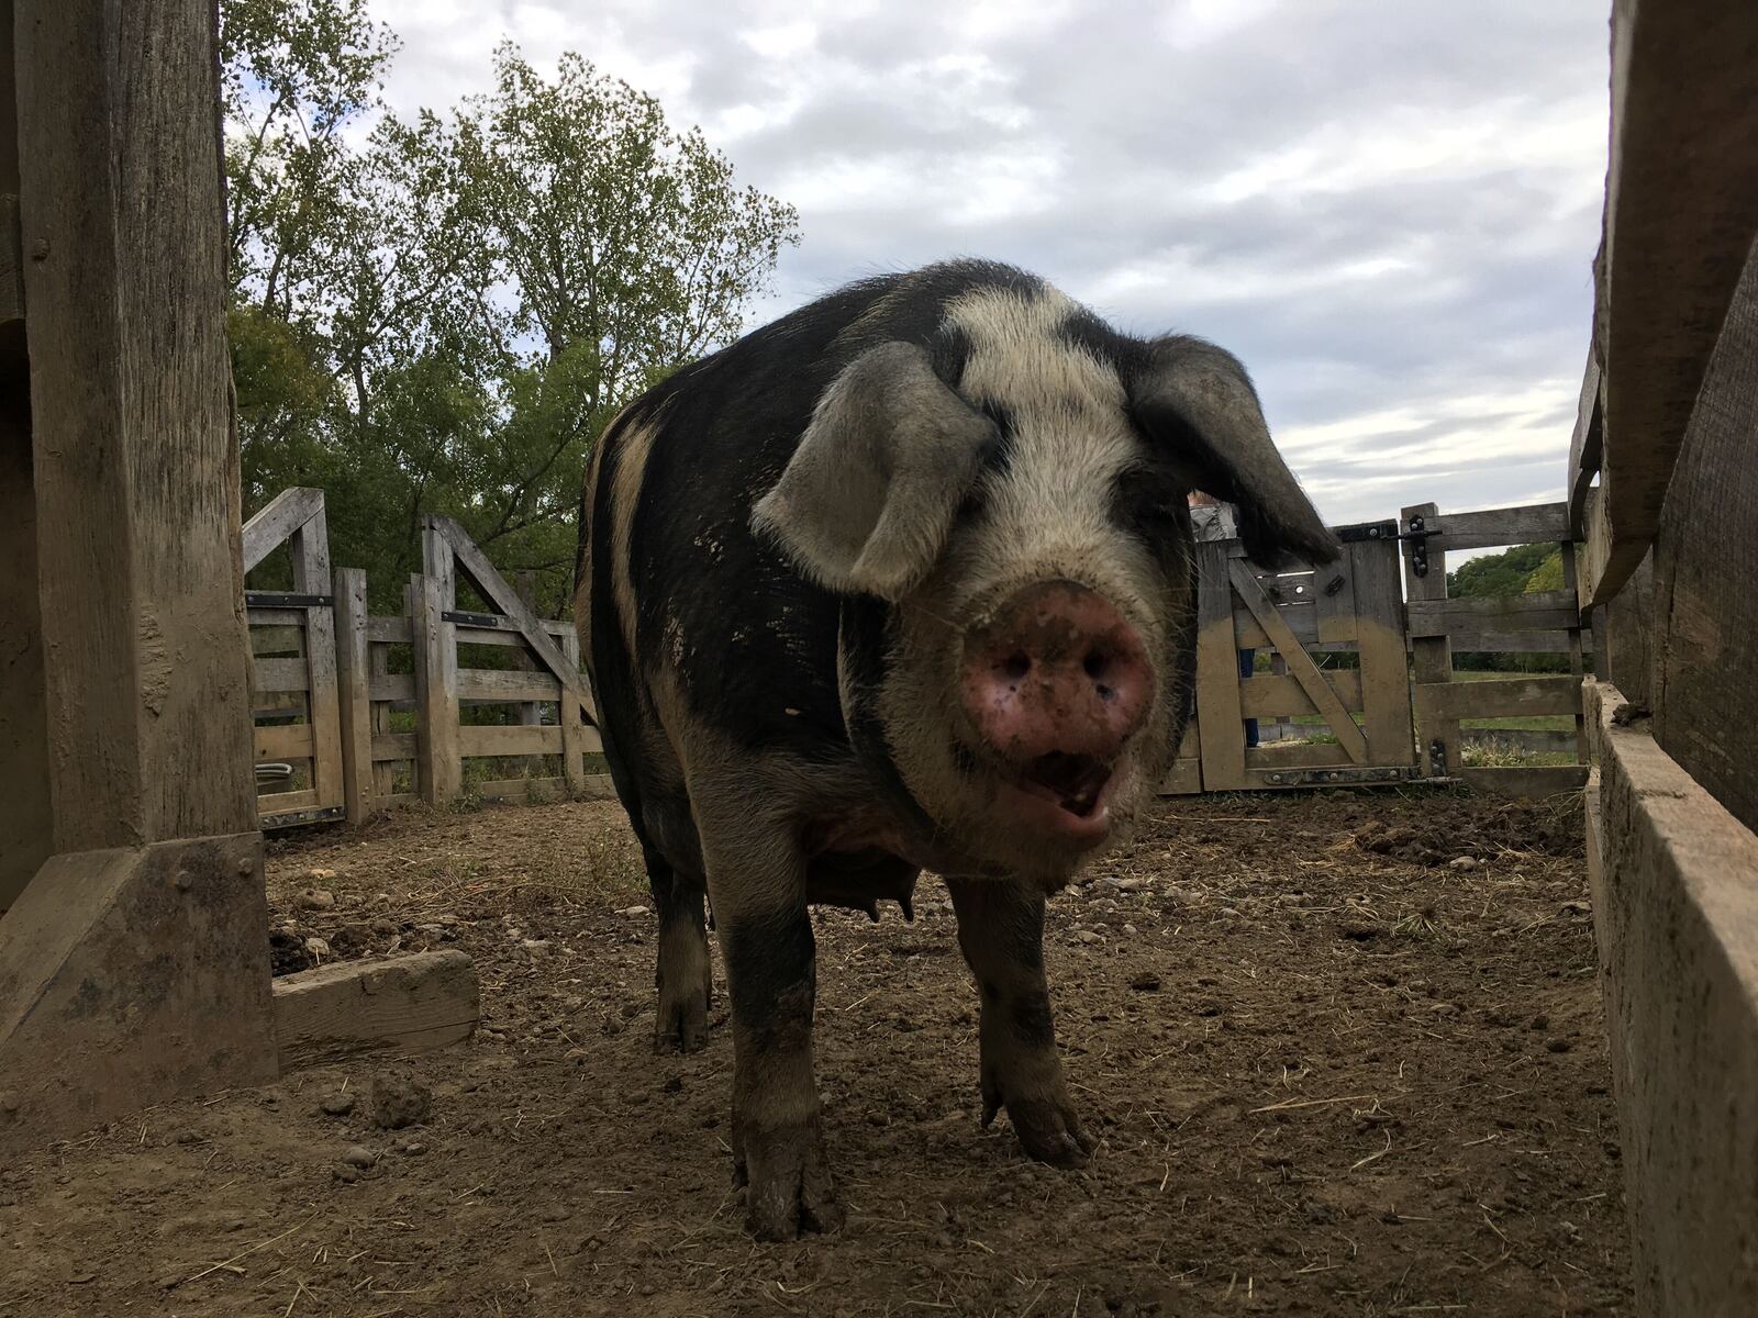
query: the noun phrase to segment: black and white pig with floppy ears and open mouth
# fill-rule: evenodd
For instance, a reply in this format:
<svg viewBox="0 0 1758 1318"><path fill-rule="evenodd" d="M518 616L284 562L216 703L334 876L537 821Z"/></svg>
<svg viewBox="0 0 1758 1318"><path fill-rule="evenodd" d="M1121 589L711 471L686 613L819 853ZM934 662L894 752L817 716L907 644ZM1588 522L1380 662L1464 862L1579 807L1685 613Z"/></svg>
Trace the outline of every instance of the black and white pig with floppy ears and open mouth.
<svg viewBox="0 0 1758 1318"><path fill-rule="evenodd" d="M951 889L984 1121L1093 1148L1044 898L1127 836L1192 703L1187 497L1329 561L1245 369L953 262L851 285L656 387L587 474L575 617L659 914L661 1047L705 1042L710 902L751 1228L832 1230L809 905Z"/></svg>

